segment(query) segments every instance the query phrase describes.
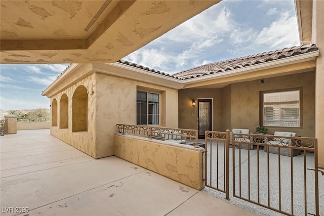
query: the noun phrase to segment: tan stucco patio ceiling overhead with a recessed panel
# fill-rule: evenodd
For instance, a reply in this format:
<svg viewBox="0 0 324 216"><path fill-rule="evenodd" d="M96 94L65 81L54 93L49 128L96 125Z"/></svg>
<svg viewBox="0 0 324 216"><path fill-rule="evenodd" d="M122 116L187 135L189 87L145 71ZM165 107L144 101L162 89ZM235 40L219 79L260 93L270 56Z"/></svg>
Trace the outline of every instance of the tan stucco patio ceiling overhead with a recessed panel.
<svg viewBox="0 0 324 216"><path fill-rule="evenodd" d="M214 1L1 1L1 63L111 63Z"/></svg>

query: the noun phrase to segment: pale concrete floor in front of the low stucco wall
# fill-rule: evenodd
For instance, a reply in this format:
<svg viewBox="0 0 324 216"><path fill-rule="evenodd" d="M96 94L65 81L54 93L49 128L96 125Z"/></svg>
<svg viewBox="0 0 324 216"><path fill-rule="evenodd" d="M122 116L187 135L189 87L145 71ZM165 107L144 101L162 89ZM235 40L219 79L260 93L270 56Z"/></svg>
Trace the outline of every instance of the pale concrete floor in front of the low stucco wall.
<svg viewBox="0 0 324 216"><path fill-rule="evenodd" d="M49 129L0 142L1 215L257 215L123 159L93 159Z"/></svg>

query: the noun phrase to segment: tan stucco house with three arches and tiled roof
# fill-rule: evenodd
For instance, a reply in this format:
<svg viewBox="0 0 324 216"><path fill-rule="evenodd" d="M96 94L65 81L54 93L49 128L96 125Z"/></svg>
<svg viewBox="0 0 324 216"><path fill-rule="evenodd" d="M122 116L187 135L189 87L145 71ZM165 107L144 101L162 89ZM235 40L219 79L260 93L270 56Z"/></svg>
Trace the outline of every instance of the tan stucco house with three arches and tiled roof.
<svg viewBox="0 0 324 216"><path fill-rule="evenodd" d="M289 130L302 137L314 137L318 54L316 46L304 45L203 65L174 75L123 60L72 64L43 92L51 98L51 134L94 158L106 157L114 155L116 124L200 131L206 126L198 114L205 102L211 109L207 129L253 131L263 125L261 93L298 90L300 123L270 126L269 133ZM140 94L149 94L145 109L150 109L149 97L157 97L155 120L147 111L141 121ZM195 107L192 100L197 101Z"/></svg>

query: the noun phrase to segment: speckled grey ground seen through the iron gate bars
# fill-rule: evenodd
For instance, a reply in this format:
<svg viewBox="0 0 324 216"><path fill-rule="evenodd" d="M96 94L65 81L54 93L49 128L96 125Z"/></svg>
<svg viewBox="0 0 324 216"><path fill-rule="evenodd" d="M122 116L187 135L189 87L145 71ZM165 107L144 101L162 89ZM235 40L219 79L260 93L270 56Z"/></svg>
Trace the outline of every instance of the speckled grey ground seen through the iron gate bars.
<svg viewBox="0 0 324 216"><path fill-rule="evenodd" d="M218 154L217 154L218 152ZM259 179L257 175L257 161L259 152ZM212 174L208 171L207 179L210 183L210 175L212 175L212 186L224 189L224 144L220 143L218 150L216 142L213 142L212 150L208 149L207 157L210 161L210 153L212 153ZM242 199L233 197L233 152L230 148L230 200L228 202L243 207L245 209L254 211L260 215L282 215L276 211L269 210L265 207L244 201ZM217 168L218 156L218 168ZM248 160L250 158L250 161ZM278 160L280 158L280 174ZM249 165L250 163L250 165ZM250 178L248 176L250 167ZM309 168L309 169L307 169ZM306 195L307 195L307 210L308 215L315 214L315 181L314 181L314 154L306 153ZM239 169L241 169L241 176L239 177ZM210 170L209 162L207 170ZM218 170L218 176L217 176ZM250 185L250 200L268 205L279 209L279 194L281 198L281 210L288 213L292 212L292 202L294 215L305 215L305 190L304 190L304 154L293 157L293 199L291 196L291 158L288 156L278 156L277 154L269 153L269 175L267 152L264 150L248 150L241 149L241 161L239 162L239 149L235 149L235 193L246 199L249 198ZM280 175L280 178L279 178ZM269 176L269 189L268 189ZM250 182L249 182L250 179ZM279 193L279 179L280 179L280 193ZM239 187L240 180L240 187ZM258 189L259 182L259 189ZM319 215L324 215L324 176L318 172L318 186L319 186ZM259 197L258 197L259 190ZM225 194L214 189L205 187L203 190L217 198L225 200ZM293 200L293 201L292 201Z"/></svg>

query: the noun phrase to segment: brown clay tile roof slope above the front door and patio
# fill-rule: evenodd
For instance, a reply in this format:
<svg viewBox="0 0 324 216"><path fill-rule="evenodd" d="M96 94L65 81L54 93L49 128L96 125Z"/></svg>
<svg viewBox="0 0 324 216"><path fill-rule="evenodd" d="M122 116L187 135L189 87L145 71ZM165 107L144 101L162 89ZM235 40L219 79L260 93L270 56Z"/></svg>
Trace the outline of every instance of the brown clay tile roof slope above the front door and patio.
<svg viewBox="0 0 324 216"><path fill-rule="evenodd" d="M296 56L304 53L310 53L317 51L318 48L315 45L302 45L298 47L284 48L281 50L264 52L260 54L250 55L246 57L240 57L236 59L230 59L221 62L214 62L202 66L198 66L189 70L181 71L173 74L174 77L179 79L190 79L198 76L204 76L211 73L218 73L236 68L242 68L255 64L261 64L277 59L287 58L290 56Z"/></svg>

